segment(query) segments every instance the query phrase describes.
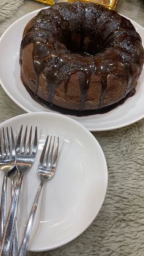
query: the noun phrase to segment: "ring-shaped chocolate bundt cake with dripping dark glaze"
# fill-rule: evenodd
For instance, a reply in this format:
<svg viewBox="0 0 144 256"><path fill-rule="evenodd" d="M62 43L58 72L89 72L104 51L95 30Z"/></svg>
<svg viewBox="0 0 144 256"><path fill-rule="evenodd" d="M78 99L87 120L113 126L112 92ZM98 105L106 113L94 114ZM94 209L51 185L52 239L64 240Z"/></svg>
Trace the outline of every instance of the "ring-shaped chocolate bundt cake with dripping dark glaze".
<svg viewBox="0 0 144 256"><path fill-rule="evenodd" d="M135 88L144 62L131 21L99 4L60 3L41 10L23 32L21 78L52 108L103 109Z"/></svg>

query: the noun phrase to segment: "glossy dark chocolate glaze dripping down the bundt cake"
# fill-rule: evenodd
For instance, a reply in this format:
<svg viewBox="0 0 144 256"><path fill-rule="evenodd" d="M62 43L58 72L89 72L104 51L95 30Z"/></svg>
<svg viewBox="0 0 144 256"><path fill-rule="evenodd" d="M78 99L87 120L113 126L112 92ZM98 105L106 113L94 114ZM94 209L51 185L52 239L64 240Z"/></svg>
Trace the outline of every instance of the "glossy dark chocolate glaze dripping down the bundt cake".
<svg viewBox="0 0 144 256"><path fill-rule="evenodd" d="M127 79L126 98L136 84L132 84L131 64L136 65L138 74L142 70L137 53L138 41L141 42L140 36L129 20L101 5L61 3L42 10L21 42L21 56L27 45L34 44L34 98L38 99L39 78L43 74L48 86L47 104L52 108L57 87L63 82L67 93L70 77L78 71L84 75L84 81L79 82L81 114L92 74L101 78L98 109L104 108L110 74ZM144 59L143 51L141 57ZM21 57L20 63L23 63Z"/></svg>

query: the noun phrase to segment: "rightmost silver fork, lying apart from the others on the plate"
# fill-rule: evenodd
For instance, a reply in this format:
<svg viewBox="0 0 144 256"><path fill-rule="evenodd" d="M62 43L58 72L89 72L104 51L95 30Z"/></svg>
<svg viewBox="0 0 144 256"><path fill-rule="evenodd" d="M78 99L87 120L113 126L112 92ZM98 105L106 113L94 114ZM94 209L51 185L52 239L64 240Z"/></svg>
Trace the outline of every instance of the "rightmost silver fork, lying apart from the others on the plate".
<svg viewBox="0 0 144 256"><path fill-rule="evenodd" d="M46 138L46 142L40 157L40 163L37 169L37 175L38 175L38 178L40 178L40 185L38 187L38 191L35 196L34 203L32 205L32 209L29 215L29 219L27 221L26 229L24 230L24 235L21 241L21 246L20 246L18 256L26 255L27 246L29 243L30 235L31 235L32 225L34 224L35 213L37 210L38 201L40 199L41 189L43 188L43 184L45 183L45 181L50 180L56 171L57 156L58 156L58 150L59 150L59 137L57 137L57 142L55 142L56 137L54 136L52 145L51 145L52 136L50 137L48 150L46 151L48 138L49 136Z"/></svg>

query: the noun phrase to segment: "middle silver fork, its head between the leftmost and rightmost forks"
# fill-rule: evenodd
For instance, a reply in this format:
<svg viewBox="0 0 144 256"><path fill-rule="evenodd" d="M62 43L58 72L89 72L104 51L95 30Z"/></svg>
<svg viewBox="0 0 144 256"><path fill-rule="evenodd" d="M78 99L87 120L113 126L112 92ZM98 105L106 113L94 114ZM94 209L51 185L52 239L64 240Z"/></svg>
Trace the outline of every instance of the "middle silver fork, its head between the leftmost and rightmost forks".
<svg viewBox="0 0 144 256"><path fill-rule="evenodd" d="M0 255L8 256L10 255L10 250L13 243L13 235L15 230L15 220L18 210L18 202L20 198L20 189L23 177L26 172L34 164L35 155L37 152L37 126L35 127L34 142L32 140L32 126L29 133L29 139L27 140L27 126L24 133L24 139L22 139L23 125L20 128L20 133L18 134L18 139L16 142L16 168L19 173L19 178L16 183L15 193L10 205L9 214L7 217L7 222L5 225L4 235L2 238Z"/></svg>

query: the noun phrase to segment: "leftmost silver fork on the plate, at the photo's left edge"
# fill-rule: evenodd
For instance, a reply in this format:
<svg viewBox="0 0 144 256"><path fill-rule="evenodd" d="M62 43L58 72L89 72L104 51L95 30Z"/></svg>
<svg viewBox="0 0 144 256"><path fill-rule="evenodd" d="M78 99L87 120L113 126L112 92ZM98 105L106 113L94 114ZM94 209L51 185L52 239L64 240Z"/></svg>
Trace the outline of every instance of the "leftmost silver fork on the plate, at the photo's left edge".
<svg viewBox="0 0 144 256"><path fill-rule="evenodd" d="M7 175L15 166L15 141L13 138L12 127L10 134L8 127L5 135L4 127L0 134L0 168L4 171L4 178L1 191L1 210L0 210L0 241L5 229L6 205L7 205Z"/></svg>

